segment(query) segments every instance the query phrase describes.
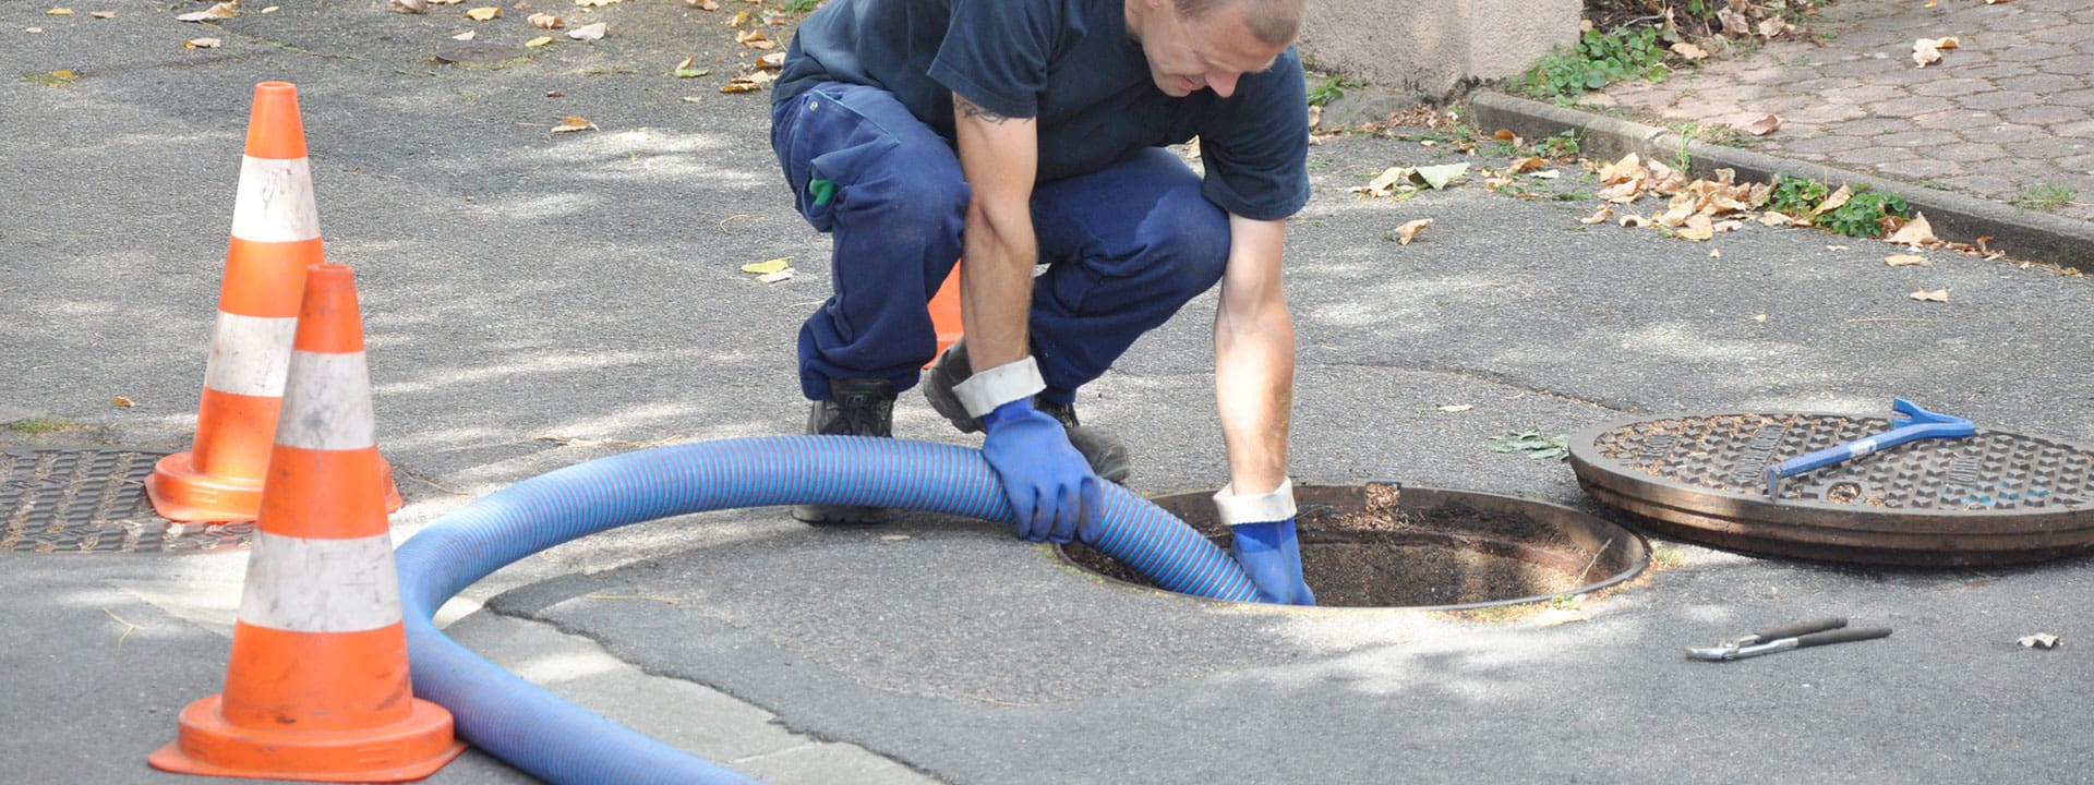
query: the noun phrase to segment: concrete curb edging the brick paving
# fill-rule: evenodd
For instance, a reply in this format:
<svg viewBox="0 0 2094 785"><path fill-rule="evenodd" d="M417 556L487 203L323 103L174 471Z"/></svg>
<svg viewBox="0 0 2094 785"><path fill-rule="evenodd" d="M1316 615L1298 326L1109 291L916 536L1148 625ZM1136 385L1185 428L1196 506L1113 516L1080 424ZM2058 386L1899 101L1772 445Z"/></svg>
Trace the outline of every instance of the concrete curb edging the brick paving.
<svg viewBox="0 0 2094 785"><path fill-rule="evenodd" d="M1581 149L1596 159L1617 159L1640 153L1658 161L1671 161L1679 153L1679 134L1663 128L1604 117L1587 111L1564 109L1539 100L1514 98L1499 92L1476 92L1470 96L1470 121L1476 128L1510 128L1522 138L1554 136L1577 128L1585 132ZM1715 170L1738 170L1738 180L1774 180L1778 172L1811 176L1830 184L1868 184L1912 203L1912 209L1926 214L1935 234L1956 243L1977 243L1989 237L1985 247L2004 251L2019 262L2048 262L2067 270L2094 274L2094 224L2046 216L1998 201L1964 197L1958 193L1922 188L1910 182L1885 180L1859 172L1836 170L1824 163L1805 163L1765 153L1740 151L1734 147L1688 140L1692 157L1690 176L1709 176Z"/></svg>

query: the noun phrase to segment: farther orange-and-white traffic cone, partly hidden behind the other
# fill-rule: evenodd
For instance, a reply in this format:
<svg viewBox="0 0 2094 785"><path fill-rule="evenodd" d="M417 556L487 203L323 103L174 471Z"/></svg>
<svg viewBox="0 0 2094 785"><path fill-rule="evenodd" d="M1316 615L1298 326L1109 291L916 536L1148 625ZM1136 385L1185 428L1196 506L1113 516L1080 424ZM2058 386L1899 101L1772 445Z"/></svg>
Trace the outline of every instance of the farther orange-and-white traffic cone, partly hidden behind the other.
<svg viewBox="0 0 2094 785"><path fill-rule="evenodd" d="M184 523L255 519L283 408L297 299L306 268L318 262L320 216L312 201L297 88L262 82L247 119L247 157L232 201L232 243L203 371L197 442L188 452L161 458L144 484L161 517ZM385 511L398 511L400 502L387 471Z"/></svg>

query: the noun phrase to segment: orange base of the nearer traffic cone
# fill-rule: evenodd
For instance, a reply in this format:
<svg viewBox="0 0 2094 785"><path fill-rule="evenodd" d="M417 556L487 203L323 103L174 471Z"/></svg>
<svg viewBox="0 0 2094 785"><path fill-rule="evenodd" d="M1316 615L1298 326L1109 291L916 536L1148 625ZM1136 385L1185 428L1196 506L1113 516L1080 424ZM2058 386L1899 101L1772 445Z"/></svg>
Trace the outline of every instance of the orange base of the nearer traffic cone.
<svg viewBox="0 0 2094 785"><path fill-rule="evenodd" d="M147 758L176 775L295 779L310 783L406 783L436 775L465 752L450 712L415 699L400 722L379 728L272 731L230 724L222 695L182 710L182 737Z"/></svg>

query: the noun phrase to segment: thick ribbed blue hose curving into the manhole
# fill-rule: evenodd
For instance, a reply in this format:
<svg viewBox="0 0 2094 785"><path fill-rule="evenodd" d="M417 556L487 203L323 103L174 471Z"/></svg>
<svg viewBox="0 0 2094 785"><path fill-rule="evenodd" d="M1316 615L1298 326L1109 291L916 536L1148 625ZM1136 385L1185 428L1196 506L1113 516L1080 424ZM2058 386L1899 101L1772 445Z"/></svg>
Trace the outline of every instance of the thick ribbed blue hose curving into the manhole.
<svg viewBox="0 0 2094 785"><path fill-rule="evenodd" d="M1250 578L1185 521L1106 484L1078 538L1173 592L1254 603ZM666 446L588 461L473 500L398 551L415 695L480 749L555 785L754 783L572 705L436 630L436 609L492 571L555 544L658 517L735 507L896 507L1009 521L980 450L859 435L777 435Z"/></svg>

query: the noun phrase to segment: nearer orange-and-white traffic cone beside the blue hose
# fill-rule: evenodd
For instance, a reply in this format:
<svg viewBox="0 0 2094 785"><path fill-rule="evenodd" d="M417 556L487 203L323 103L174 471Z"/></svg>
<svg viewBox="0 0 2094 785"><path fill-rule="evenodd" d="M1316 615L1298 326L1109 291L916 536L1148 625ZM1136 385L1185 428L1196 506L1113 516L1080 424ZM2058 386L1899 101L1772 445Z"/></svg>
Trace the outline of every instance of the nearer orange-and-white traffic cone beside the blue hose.
<svg viewBox="0 0 2094 785"><path fill-rule="evenodd" d="M356 274L308 272L226 691L149 762L184 775L398 783L448 764L450 712L415 699Z"/></svg>

